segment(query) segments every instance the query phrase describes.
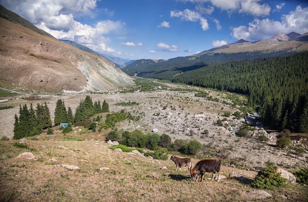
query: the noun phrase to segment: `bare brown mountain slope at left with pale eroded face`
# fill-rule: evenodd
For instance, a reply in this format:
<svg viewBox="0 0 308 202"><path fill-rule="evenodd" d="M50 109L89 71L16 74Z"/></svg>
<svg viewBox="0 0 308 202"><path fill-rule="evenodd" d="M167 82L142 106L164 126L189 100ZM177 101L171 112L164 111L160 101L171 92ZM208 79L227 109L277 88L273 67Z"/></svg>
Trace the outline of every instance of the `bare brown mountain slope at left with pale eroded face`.
<svg viewBox="0 0 308 202"><path fill-rule="evenodd" d="M1 16L0 87L33 93L63 93L134 84L131 77L105 58L37 30L17 14L14 19L22 23L8 17L11 14Z"/></svg>

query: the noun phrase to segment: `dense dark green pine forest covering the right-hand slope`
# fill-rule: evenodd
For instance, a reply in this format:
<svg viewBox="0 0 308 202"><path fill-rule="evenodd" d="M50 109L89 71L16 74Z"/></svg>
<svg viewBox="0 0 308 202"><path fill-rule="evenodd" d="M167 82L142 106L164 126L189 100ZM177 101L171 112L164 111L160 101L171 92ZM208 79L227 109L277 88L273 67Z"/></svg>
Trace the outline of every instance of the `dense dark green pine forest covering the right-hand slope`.
<svg viewBox="0 0 308 202"><path fill-rule="evenodd" d="M138 75L246 95L269 129L308 133L308 52Z"/></svg>

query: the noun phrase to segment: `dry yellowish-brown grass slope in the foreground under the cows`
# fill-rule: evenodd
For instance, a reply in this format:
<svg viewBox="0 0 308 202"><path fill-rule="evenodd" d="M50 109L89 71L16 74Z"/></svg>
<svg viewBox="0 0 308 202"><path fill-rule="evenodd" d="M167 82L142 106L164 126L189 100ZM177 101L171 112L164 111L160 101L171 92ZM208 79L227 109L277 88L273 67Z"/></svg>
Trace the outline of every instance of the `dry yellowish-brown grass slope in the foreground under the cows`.
<svg viewBox="0 0 308 202"><path fill-rule="evenodd" d="M193 182L187 169L175 171L170 159L158 161L113 151L101 141L101 134L91 135L96 139L92 141L62 141L67 136L42 134L37 140L28 138L28 148L14 147L17 140L0 141L0 201L247 201L244 193L253 190L235 179ZM23 152L31 152L39 160L18 158ZM52 158L57 162L50 161ZM194 159L193 164L197 161ZM55 167L59 164L80 169ZM168 169L161 169L163 166ZM99 169L104 167L110 169ZM222 170L228 176L234 168ZM153 172L161 178L147 176ZM265 200L269 202L281 201L283 197L288 197L288 201L308 201L307 186L288 185L268 192L273 196Z"/></svg>

